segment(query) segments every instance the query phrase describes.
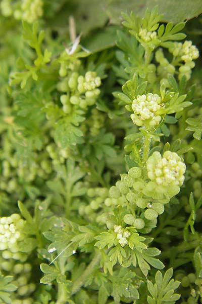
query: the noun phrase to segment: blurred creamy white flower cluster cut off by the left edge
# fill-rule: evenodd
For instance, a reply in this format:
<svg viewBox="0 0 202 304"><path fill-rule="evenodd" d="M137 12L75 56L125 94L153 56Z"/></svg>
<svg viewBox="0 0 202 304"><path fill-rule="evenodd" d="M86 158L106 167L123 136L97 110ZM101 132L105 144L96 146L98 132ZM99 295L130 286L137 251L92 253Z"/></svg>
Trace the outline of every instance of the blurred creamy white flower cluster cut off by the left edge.
<svg viewBox="0 0 202 304"><path fill-rule="evenodd" d="M12 214L9 217L0 218L0 250L10 249L16 251L16 243L22 239L21 230L25 221L19 214Z"/></svg>

